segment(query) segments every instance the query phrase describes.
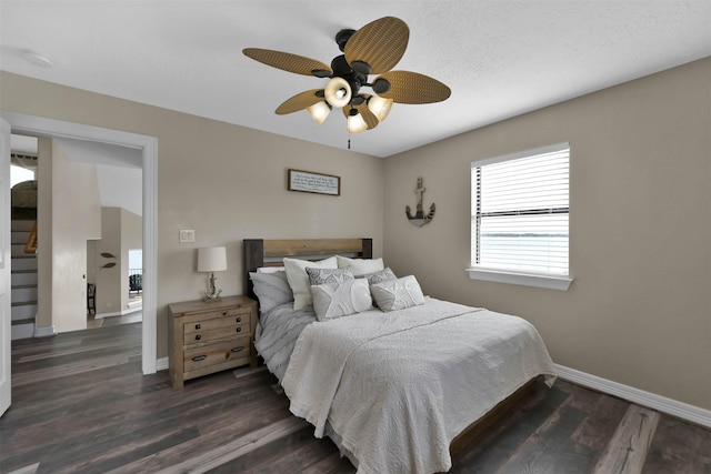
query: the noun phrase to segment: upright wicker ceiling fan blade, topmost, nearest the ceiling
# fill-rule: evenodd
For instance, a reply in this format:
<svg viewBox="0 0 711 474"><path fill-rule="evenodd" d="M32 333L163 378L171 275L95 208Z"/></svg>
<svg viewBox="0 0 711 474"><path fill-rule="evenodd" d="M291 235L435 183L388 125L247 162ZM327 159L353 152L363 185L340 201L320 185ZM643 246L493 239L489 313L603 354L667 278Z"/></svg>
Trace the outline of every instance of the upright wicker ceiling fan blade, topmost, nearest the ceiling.
<svg viewBox="0 0 711 474"><path fill-rule="evenodd" d="M365 62L369 74L381 74L395 67L408 48L410 29L394 17L384 17L365 24L346 43L343 52L350 64Z"/></svg>

